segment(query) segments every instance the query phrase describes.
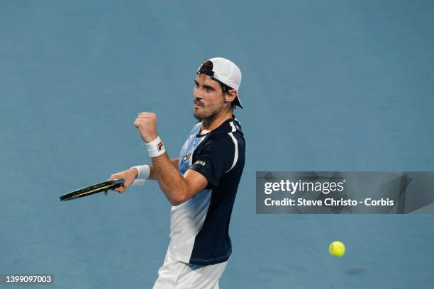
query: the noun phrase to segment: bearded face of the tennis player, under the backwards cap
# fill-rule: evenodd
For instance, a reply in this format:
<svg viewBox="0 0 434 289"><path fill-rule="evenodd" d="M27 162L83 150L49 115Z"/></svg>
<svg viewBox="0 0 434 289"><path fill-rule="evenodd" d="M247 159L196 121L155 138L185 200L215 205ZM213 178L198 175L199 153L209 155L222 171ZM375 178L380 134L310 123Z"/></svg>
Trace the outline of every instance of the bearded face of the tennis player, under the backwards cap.
<svg viewBox="0 0 434 289"><path fill-rule="evenodd" d="M217 115L223 109L223 91L217 81L205 74L197 74L193 89L193 115L204 120Z"/></svg>

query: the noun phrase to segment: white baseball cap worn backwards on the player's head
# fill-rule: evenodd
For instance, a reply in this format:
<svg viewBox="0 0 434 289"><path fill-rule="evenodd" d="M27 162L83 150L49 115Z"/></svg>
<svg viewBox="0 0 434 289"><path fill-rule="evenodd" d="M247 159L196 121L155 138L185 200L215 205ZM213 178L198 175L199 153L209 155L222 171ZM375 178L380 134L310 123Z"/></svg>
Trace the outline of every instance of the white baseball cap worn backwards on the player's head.
<svg viewBox="0 0 434 289"><path fill-rule="evenodd" d="M241 106L240 96L238 95L238 90L241 85L241 71L238 66L223 57L214 57L209 61L213 62L213 70L207 75L211 77L211 79L229 86L230 89L235 89L237 91L235 106L243 108L243 106ZM200 69L201 66L197 69L198 73Z"/></svg>

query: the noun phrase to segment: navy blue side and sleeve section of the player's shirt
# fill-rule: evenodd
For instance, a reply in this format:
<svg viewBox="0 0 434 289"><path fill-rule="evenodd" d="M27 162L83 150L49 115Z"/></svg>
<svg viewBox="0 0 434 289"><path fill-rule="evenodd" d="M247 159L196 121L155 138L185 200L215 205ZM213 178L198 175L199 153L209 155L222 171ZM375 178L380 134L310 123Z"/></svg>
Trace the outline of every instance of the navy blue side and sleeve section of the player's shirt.
<svg viewBox="0 0 434 289"><path fill-rule="evenodd" d="M237 130L234 126L229 126L229 122L235 123ZM235 142L238 148L236 156ZM209 132L196 147L192 157L193 164L189 169L198 171L208 180L212 193L204 226L196 235L189 263L221 263L227 261L232 252L229 237L230 215L245 164L245 140L240 124L230 119L216 131ZM233 166L235 157L236 164Z"/></svg>

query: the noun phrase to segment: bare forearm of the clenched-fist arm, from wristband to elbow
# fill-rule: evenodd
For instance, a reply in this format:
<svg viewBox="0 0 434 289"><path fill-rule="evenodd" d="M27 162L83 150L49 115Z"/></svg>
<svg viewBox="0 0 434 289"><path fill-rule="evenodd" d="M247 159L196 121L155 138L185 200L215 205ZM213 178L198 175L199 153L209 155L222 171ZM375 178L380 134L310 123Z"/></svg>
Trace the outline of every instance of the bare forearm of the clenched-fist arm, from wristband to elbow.
<svg viewBox="0 0 434 289"><path fill-rule="evenodd" d="M178 164L178 159L170 160L167 154L153 157L151 174L154 179L157 179L169 202L172 205L179 205L186 198L188 183L184 176L179 174L178 168L174 164Z"/></svg>

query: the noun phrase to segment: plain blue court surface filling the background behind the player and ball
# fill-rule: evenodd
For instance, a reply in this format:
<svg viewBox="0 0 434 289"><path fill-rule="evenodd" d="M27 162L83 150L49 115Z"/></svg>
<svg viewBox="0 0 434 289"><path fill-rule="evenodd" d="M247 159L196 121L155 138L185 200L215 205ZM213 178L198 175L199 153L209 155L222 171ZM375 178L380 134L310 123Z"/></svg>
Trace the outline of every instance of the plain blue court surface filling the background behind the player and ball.
<svg viewBox="0 0 434 289"><path fill-rule="evenodd" d="M196 69L226 57L247 152L221 288L434 288L433 215L255 212L256 171L434 171L433 51L433 1L0 0L0 274L151 288L157 183L58 198L150 162L142 111L177 157Z"/></svg>

